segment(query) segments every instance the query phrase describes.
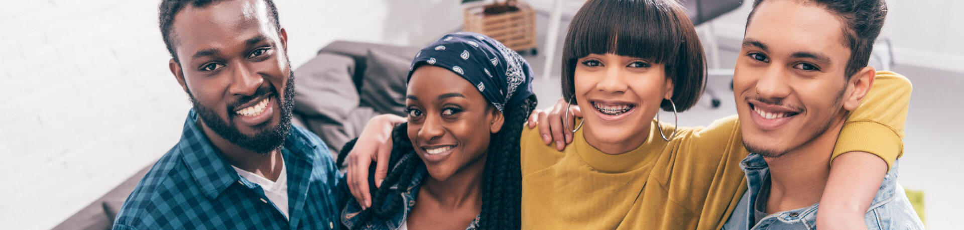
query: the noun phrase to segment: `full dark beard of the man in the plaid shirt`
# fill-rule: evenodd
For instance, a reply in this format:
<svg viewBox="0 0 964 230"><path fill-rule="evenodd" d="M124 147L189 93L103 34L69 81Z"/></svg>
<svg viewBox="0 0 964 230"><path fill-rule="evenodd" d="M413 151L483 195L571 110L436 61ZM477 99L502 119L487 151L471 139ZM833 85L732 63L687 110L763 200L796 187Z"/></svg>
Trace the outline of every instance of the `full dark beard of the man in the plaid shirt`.
<svg viewBox="0 0 964 230"><path fill-rule="evenodd" d="M275 149L281 148L281 144L284 143L285 138L287 138L291 131L291 112L294 110L295 104L294 79L294 71L291 71L288 74L287 85L284 86L284 98L278 103L278 105L281 107L281 120L279 121L278 125L275 127L260 128L260 132L254 134L254 137L242 134L241 131L234 126L234 115L236 114L234 114L234 111L231 110L231 106L228 106L228 122L225 122L225 119L222 119L222 117L218 116L214 110L202 106L201 103L194 98L194 95L191 94L190 89L188 89L188 97L191 98L191 104L194 104L194 109L198 112L198 115L200 115L201 120L203 120L204 124L214 131L215 134L221 136L221 138L224 138L225 140L230 141L231 143L237 144L238 146L254 152L270 153ZM263 94L272 92L276 99L281 99L277 89L275 89L274 86L258 89L254 95L245 98L255 99ZM250 99L239 100L240 103L235 104L240 105L241 103L250 101Z"/></svg>

